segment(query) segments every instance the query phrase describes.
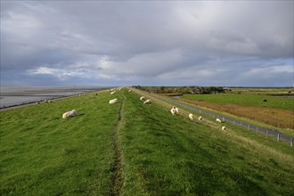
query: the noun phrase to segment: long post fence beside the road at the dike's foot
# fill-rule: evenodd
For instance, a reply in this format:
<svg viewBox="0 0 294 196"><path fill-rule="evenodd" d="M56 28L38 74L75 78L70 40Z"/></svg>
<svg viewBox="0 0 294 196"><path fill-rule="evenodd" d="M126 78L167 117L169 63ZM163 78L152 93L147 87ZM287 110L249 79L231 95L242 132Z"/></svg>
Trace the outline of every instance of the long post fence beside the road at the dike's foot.
<svg viewBox="0 0 294 196"><path fill-rule="evenodd" d="M151 95L151 94L149 94L149 95ZM177 102L175 100L170 100L170 99L167 99L165 97L162 97L162 96L159 96L156 94L153 94L153 95L159 100L169 102L172 104L176 104L178 106L181 106L181 107L189 109L189 110L194 110L196 112L199 112L200 114L205 114L205 115L208 115L212 118L220 118L223 121L233 123L234 125L248 128L248 130L256 132L257 134L264 134L264 135L266 135L266 137L268 137L268 136L275 137L277 139L277 141L281 140L281 141L288 142L288 143L290 143L290 146L293 147L293 137L279 133L278 131L276 131L274 129L269 129L269 128L265 128L265 127L257 127L255 125L251 125L247 122L242 122L241 120L237 120L234 118L229 118L229 117L225 117L225 116L216 114L216 113L209 111L209 110L203 110L203 109L197 108L195 106L185 104L183 102Z"/></svg>

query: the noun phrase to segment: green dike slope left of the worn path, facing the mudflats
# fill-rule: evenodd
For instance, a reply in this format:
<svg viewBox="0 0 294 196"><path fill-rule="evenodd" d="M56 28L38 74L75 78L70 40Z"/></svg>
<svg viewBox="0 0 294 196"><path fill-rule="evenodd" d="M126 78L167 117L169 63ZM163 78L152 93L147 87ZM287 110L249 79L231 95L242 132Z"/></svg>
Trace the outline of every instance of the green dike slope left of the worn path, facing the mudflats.
<svg viewBox="0 0 294 196"><path fill-rule="evenodd" d="M107 194L119 105L87 94L0 112L1 194ZM78 116L62 119L76 109Z"/></svg>

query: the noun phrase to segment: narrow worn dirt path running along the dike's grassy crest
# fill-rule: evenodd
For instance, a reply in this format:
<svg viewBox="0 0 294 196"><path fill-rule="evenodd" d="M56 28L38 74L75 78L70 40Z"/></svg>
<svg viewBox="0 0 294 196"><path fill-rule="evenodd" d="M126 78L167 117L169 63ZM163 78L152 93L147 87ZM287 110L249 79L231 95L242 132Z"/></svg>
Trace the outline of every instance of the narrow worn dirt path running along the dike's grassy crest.
<svg viewBox="0 0 294 196"><path fill-rule="evenodd" d="M122 110L124 107L125 96L123 96L122 102L120 103L118 110L118 123L117 126L113 130L112 142L113 142L113 150L114 150L114 160L110 167L110 171L112 172L111 186L110 186L110 195L118 196L121 193L121 187L123 184L123 176L122 176L122 151L120 147L119 141L119 129L121 127L122 120Z"/></svg>

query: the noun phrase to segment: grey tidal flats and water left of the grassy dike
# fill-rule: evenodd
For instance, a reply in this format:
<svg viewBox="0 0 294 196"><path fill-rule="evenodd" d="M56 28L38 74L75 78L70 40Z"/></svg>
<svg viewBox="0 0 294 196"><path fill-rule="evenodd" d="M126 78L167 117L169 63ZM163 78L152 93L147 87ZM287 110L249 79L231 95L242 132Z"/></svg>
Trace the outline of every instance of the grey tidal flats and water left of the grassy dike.
<svg viewBox="0 0 294 196"><path fill-rule="evenodd" d="M0 86L0 109L101 91L113 86Z"/></svg>

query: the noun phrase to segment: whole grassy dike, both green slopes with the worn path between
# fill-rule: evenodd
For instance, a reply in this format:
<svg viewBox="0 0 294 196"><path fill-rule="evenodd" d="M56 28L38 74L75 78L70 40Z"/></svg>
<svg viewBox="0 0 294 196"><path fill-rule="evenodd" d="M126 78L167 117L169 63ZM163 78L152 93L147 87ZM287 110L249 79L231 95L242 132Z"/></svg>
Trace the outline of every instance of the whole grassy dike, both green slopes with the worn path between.
<svg viewBox="0 0 294 196"><path fill-rule="evenodd" d="M173 117L167 103L139 97L100 92L1 111L1 195L294 193L288 143ZM77 117L61 118L72 109Z"/></svg>

